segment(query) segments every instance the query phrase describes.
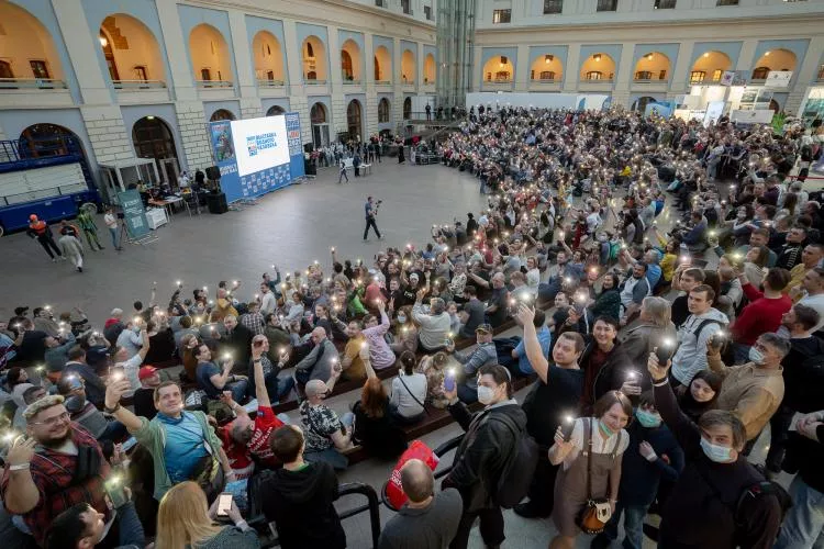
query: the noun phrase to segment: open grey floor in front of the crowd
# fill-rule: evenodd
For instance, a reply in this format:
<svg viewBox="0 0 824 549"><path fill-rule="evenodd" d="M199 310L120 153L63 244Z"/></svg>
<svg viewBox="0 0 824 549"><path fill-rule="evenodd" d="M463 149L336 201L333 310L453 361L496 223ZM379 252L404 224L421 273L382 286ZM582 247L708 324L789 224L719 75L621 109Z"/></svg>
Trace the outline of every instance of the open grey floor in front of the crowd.
<svg viewBox="0 0 824 549"><path fill-rule="evenodd" d="M112 307L130 311L135 300L147 303L153 281L163 305L176 280L183 280L187 295L202 285L213 295L220 280L242 280L240 299L247 300L272 264L286 272L318 259L329 272L330 246L341 258L366 261L387 245L426 243L433 223L450 223L454 216L466 222L467 212L486 205L476 179L441 166L385 161L375 165L371 176L349 180L336 184L337 170L329 168L313 182L268 194L242 212L191 219L179 213L156 231L156 242L127 245L120 254L103 228L100 238L107 248L87 250L83 273L68 261L49 262L23 233L3 237L0 317L9 318L20 305L49 304L56 311L81 305L92 325L102 326ZM383 201L378 226L386 240L370 234L364 244L364 202L370 194ZM102 216L98 226L104 227Z"/></svg>

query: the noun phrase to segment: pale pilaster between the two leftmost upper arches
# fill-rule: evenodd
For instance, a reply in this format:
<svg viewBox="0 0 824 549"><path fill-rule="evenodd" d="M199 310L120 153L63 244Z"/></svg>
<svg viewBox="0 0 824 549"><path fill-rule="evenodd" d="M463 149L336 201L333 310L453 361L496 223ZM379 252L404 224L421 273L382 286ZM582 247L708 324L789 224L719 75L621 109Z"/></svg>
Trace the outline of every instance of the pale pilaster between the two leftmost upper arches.
<svg viewBox="0 0 824 549"><path fill-rule="evenodd" d="M55 18L63 34L71 66L77 75L82 102L89 105L108 105L112 103L112 92L100 70L97 48L98 30L89 29L80 0L52 0Z"/></svg>

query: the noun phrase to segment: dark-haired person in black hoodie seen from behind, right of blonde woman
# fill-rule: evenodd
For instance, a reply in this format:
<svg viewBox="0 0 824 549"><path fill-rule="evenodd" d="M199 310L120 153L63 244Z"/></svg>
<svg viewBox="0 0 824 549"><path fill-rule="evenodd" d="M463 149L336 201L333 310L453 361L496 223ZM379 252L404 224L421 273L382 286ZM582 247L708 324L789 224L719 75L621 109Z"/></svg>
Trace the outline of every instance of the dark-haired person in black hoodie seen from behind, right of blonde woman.
<svg viewBox="0 0 824 549"><path fill-rule="evenodd" d="M346 533L335 511L337 478L332 466L324 461L303 461L305 441L294 425L283 425L269 440L282 469L268 471L259 490L263 511L268 522L275 522L278 540L283 549L343 549Z"/></svg>

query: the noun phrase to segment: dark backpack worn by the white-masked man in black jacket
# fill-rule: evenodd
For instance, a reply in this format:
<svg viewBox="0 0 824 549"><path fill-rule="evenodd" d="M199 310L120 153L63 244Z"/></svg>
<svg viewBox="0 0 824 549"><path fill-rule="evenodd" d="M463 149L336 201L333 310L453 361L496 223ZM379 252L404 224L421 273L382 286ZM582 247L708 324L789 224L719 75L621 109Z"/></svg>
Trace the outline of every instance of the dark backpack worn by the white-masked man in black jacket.
<svg viewBox="0 0 824 549"><path fill-rule="evenodd" d="M538 445L506 414L491 414L490 418L504 424L515 436L515 444L506 457L498 486L492 494L498 505L510 509L521 503L530 491L535 467L538 463Z"/></svg>

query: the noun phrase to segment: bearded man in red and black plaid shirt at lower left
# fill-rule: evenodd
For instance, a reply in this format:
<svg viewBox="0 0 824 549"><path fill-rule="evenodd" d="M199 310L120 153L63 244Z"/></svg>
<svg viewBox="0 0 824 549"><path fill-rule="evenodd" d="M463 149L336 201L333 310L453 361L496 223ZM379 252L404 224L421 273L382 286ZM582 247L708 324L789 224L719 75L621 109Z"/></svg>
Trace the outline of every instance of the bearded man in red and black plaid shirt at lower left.
<svg viewBox="0 0 824 549"><path fill-rule="evenodd" d="M98 441L69 421L63 396L33 402L25 419L27 438L18 438L5 457L0 484L5 509L22 515L41 547L48 525L75 504L88 503L107 524L115 520L104 500L109 463Z"/></svg>

